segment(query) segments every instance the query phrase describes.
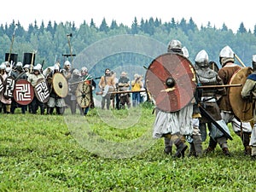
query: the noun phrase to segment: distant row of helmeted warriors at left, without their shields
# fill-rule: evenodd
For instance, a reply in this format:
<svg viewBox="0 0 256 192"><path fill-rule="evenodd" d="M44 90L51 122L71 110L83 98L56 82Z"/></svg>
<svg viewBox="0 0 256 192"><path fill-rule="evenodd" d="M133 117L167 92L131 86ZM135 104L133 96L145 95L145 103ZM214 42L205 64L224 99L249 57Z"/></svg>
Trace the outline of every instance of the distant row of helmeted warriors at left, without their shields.
<svg viewBox="0 0 256 192"><path fill-rule="evenodd" d="M53 67L47 67L44 70L41 64L32 67L27 64L23 66L21 62L17 62L15 67L11 67L9 62L5 61L0 65L0 71L0 113L15 113L16 108L21 108L22 113L26 113L26 111L29 113L38 113L38 109L40 109L41 114L53 114L55 109L56 114L63 114L67 105L70 106L72 113L75 113L78 106L75 95L78 83L86 79L87 83L90 82L89 87L91 90L96 87L94 80L91 77L88 78L89 74L86 67L82 67L80 71L78 69L71 70L71 63L69 61L64 62L62 69L60 68L60 63L56 62ZM60 73L67 80L69 90L67 96L61 97L53 89L52 80L55 73ZM38 99L38 96L33 96L32 102L28 105L19 104L15 101L13 95L6 96L4 93L6 79L11 79L14 82L25 79L32 85L34 90L36 90L35 87L39 82L45 82L45 86L41 90L46 89L49 91L48 98L44 101L44 99ZM89 108L93 108L94 103L91 92L90 97L90 104L84 108L79 108L81 114L86 115Z"/></svg>

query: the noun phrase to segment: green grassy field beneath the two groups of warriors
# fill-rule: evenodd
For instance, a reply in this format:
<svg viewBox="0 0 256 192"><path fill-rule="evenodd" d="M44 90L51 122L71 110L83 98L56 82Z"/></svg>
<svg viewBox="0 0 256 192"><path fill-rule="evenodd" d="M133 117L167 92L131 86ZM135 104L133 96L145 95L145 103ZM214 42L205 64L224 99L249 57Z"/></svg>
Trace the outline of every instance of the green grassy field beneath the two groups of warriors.
<svg viewBox="0 0 256 192"><path fill-rule="evenodd" d="M152 139L153 123L150 105L86 117L0 114L0 191L255 190L255 162L233 131L231 157L218 147L173 160Z"/></svg>

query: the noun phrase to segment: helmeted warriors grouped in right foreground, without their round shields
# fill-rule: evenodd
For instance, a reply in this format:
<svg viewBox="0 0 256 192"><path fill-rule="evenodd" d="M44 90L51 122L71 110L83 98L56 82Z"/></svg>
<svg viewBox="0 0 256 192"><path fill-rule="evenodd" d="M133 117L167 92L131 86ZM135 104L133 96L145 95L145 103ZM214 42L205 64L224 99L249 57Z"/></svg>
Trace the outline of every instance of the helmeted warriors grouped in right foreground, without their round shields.
<svg viewBox="0 0 256 192"><path fill-rule="evenodd" d="M177 39L169 43L167 50L171 54L189 58L188 50L184 51ZM256 61L256 56L254 60ZM225 156L231 156L228 146L228 141L232 138L228 127L230 124L232 130L241 138L244 154L251 155L255 160L256 125L252 122L244 122L236 116L230 105L228 94L230 87L225 86L230 83L232 75L242 67L235 64L235 54L229 46L221 49L219 61L221 68L213 70L210 67L207 51L201 49L195 56L193 65L197 85L192 101L176 112L165 112L156 106L153 137L164 137L166 154L172 154L172 146L175 145L176 153L173 157L184 157L188 142L189 156L201 157L203 154L213 153L217 145ZM255 61L253 63L256 63ZM254 64L253 73L256 70L255 66ZM255 82L253 74L247 77L246 84L240 93L242 98L253 98L256 91ZM204 86L211 89L203 89ZM253 102L253 99L251 101ZM203 150L202 143L206 142L207 135L209 136L208 147Z"/></svg>

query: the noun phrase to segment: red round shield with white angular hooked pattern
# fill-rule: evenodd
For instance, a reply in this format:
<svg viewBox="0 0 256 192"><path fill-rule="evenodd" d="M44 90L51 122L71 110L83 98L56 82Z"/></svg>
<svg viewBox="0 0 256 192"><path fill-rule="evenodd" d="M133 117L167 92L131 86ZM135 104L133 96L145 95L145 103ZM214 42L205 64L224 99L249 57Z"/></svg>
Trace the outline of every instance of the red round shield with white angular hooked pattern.
<svg viewBox="0 0 256 192"><path fill-rule="evenodd" d="M14 99L20 105L28 105L34 98L32 84L25 79L17 80L15 83Z"/></svg>

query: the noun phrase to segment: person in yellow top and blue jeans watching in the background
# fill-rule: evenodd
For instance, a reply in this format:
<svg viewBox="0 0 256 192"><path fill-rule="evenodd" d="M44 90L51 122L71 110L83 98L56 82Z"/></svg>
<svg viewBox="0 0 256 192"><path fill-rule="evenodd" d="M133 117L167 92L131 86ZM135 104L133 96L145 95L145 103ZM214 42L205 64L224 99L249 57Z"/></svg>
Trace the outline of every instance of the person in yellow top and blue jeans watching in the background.
<svg viewBox="0 0 256 192"><path fill-rule="evenodd" d="M134 74L134 79L131 81L131 91L142 90L143 82L139 74ZM141 102L140 92L133 92L132 97L132 107L136 107Z"/></svg>

